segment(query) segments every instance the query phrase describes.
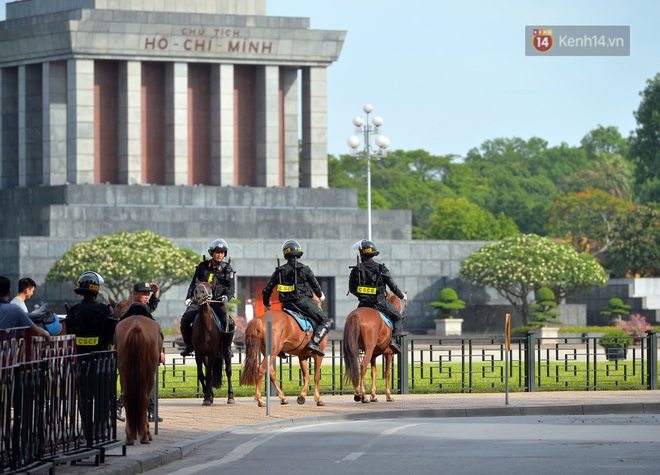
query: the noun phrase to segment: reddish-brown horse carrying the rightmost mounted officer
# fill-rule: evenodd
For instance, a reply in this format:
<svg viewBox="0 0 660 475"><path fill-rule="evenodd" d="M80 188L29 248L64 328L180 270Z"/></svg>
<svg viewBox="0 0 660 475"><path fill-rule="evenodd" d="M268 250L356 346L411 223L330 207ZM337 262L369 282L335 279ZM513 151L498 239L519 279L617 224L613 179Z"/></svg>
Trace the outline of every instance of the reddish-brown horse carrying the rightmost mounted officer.
<svg viewBox="0 0 660 475"><path fill-rule="evenodd" d="M394 308L405 313L405 307L399 297L388 294L388 300ZM369 307L358 307L348 314L344 325L344 362L346 364L346 380L353 383L355 395L353 399L362 402L378 402L376 397L376 377L378 368L376 358L385 358L385 397L388 402L394 401L390 391L390 376L392 371L392 350L390 338L392 330L383 321L378 310ZM360 350L364 358L360 364ZM371 363L371 398L368 399L364 388L367 365Z"/></svg>

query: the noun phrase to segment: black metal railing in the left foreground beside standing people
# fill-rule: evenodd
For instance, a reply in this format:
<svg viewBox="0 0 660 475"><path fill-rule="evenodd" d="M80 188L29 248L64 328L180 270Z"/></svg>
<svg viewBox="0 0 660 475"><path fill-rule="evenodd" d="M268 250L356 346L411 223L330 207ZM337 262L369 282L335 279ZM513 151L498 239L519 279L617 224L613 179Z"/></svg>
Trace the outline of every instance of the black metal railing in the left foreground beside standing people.
<svg viewBox="0 0 660 475"><path fill-rule="evenodd" d="M117 355L75 354L75 337L26 338L0 330L0 474L53 471L58 464L123 447L114 418Z"/></svg>

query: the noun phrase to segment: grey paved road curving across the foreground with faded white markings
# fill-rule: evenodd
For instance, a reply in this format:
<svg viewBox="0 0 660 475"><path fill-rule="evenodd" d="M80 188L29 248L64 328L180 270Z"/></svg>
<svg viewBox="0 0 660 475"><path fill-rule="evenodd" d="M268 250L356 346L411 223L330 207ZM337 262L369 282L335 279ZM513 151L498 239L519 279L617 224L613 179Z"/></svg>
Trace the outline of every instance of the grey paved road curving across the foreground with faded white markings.
<svg viewBox="0 0 660 475"><path fill-rule="evenodd" d="M402 418L239 429L151 475L657 473L660 415Z"/></svg>

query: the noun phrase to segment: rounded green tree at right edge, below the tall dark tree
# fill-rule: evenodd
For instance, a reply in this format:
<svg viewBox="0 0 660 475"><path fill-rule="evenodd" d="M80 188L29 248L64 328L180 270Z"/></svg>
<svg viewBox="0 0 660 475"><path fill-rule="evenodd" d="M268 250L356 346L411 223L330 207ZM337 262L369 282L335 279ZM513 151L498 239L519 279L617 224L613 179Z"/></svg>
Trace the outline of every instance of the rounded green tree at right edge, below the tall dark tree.
<svg viewBox="0 0 660 475"><path fill-rule="evenodd" d="M612 232L605 264L616 277L660 277L660 211L637 206Z"/></svg>

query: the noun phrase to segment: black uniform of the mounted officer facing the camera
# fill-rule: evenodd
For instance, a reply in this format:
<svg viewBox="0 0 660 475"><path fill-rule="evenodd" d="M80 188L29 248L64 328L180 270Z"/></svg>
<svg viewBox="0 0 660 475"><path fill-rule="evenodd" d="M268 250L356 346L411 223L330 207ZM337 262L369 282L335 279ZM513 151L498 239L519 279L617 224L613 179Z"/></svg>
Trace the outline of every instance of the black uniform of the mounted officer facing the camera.
<svg viewBox="0 0 660 475"><path fill-rule="evenodd" d="M222 261L220 264L214 264L213 260L202 261L197 264L195 269L195 275L190 282L188 287L188 293L186 294L186 299L193 297L195 293L195 287L197 287L198 282L208 282L211 283L216 281L216 285L213 289L213 300L220 300L222 296L227 297L227 301L231 300L234 297L236 291L236 282L234 279L234 270L231 268L230 261ZM227 307L220 303L211 303L211 307L215 310L216 315L220 318L220 323L223 328L227 328ZM181 317L181 335L183 340L186 343L186 346L192 348L192 324L195 320L195 316L198 312L198 307L196 304L191 303L186 309L185 313ZM233 332L235 324L232 321L229 322L229 333ZM233 338L233 335L227 336L227 338ZM231 340L229 340L231 342ZM227 355L231 354L231 344L225 345L227 347Z"/></svg>

